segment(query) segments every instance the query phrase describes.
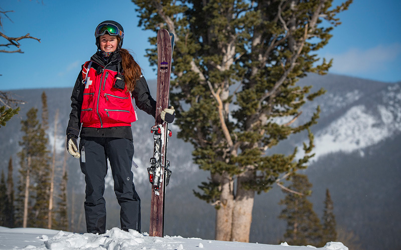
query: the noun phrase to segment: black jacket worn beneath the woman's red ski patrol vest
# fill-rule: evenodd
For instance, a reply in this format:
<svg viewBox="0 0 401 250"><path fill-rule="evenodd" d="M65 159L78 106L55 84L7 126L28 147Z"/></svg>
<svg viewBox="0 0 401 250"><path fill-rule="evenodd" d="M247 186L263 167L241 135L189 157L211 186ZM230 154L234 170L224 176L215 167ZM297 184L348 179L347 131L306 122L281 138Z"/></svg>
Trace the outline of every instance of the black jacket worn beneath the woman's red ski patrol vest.
<svg viewBox="0 0 401 250"><path fill-rule="evenodd" d="M119 52L113 52L110 57L106 60L103 59L100 51L96 52L92 55L91 60L95 63L92 63L92 67L96 68L100 73L100 70L104 67L114 71L121 71L121 55ZM100 67L99 64L102 67ZM106 127L106 128L94 128L94 127L82 127L81 129L81 106L83 100L83 92L84 92L85 84L82 83L82 67L81 71L77 77L75 82L74 89L71 94L71 113L70 120L68 121L67 136L69 134L73 134L78 137L81 130L81 137L117 137L117 138L127 138L132 139L132 131L131 126L117 126L117 127ZM156 101L150 95L149 87L147 85L145 77L141 76L135 85L135 89L132 91L132 97L135 98L135 105L145 111L148 114L151 114L153 117L156 113Z"/></svg>

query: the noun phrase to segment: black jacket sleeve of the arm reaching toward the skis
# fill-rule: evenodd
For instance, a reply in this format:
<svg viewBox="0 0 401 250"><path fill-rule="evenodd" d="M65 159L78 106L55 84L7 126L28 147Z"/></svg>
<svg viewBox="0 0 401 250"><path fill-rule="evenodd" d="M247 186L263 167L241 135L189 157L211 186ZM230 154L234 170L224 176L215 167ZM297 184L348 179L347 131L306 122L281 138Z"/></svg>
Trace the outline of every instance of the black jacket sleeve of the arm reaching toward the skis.
<svg viewBox="0 0 401 250"><path fill-rule="evenodd" d="M153 117L156 116L156 101L150 95L149 86L147 85L145 77L141 76L139 80L136 81L132 96L135 98L135 105L139 109L151 114Z"/></svg>

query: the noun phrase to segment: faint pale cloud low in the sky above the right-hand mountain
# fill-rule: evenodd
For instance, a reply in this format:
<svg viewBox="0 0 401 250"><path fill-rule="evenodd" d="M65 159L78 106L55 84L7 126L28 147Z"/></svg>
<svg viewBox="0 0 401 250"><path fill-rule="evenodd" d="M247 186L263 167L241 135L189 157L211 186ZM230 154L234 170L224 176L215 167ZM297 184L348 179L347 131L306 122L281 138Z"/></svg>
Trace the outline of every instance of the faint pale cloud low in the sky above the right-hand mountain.
<svg viewBox="0 0 401 250"><path fill-rule="evenodd" d="M350 48L342 54L327 53L325 57L333 58L330 72L355 74L379 72L400 55L401 43L395 42L388 45L379 44L365 50Z"/></svg>

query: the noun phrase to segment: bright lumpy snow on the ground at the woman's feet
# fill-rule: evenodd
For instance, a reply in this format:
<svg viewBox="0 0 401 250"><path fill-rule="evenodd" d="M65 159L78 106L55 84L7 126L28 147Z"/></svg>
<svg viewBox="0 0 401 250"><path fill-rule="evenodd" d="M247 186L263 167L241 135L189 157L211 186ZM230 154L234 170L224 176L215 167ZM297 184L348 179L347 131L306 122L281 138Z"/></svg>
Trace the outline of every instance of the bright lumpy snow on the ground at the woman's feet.
<svg viewBox="0 0 401 250"><path fill-rule="evenodd" d="M104 234L73 233L43 228L8 228L0 226L0 249L24 250L348 250L341 242L328 242L324 247L292 246L183 238L181 236L151 237L148 233L129 232L119 228Z"/></svg>

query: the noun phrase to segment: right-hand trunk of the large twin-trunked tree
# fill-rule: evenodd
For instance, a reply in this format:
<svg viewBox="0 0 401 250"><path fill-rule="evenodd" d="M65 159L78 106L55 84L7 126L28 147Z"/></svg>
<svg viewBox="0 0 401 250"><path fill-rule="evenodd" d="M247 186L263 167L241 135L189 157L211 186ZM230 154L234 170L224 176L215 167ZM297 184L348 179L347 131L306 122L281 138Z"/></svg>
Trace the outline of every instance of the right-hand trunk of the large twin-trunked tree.
<svg viewBox="0 0 401 250"><path fill-rule="evenodd" d="M254 175L253 171L246 171L238 176L231 241L249 242L255 191L244 189L243 183L254 178Z"/></svg>

